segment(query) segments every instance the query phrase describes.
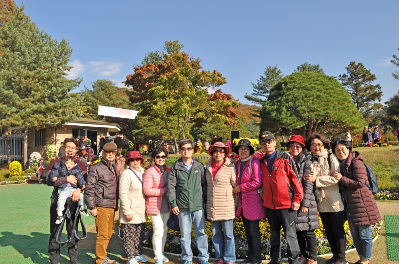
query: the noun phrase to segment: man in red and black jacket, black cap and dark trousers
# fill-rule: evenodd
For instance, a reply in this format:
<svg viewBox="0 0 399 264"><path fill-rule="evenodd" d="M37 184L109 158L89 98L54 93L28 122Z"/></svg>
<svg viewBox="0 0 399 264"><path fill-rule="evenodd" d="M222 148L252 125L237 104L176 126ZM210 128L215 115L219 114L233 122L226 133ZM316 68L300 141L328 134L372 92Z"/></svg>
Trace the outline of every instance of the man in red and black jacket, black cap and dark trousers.
<svg viewBox="0 0 399 264"><path fill-rule="evenodd" d="M297 210L303 199L303 189L291 156L276 150L276 141L269 131L259 134L259 142L265 156L260 160L263 181L263 206L270 224L271 264L282 263L280 255L283 227L287 240L288 263L297 264L299 245L296 238Z"/></svg>

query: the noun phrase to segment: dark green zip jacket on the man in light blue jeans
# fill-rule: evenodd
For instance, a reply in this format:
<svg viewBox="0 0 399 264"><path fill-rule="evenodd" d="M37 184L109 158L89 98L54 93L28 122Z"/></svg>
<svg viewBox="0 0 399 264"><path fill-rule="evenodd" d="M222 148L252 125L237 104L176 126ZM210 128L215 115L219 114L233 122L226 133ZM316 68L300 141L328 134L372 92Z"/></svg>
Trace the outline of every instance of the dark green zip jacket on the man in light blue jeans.
<svg viewBox="0 0 399 264"><path fill-rule="evenodd" d="M206 178L203 165L194 159L190 172L180 158L168 175L167 197L171 208L179 207L180 211L198 211L206 202Z"/></svg>

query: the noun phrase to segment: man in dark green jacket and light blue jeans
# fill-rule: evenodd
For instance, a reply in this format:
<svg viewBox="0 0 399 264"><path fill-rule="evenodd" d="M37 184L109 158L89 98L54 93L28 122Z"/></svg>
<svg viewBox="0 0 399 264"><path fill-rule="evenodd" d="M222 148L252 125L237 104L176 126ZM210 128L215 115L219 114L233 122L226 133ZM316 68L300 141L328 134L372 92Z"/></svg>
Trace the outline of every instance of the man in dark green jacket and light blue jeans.
<svg viewBox="0 0 399 264"><path fill-rule="evenodd" d="M203 165L193 158L194 142L179 142L182 157L172 166L168 175L167 197L172 212L179 217L182 260L191 264L191 224L193 222L200 264L208 264L208 237L205 234L206 179Z"/></svg>

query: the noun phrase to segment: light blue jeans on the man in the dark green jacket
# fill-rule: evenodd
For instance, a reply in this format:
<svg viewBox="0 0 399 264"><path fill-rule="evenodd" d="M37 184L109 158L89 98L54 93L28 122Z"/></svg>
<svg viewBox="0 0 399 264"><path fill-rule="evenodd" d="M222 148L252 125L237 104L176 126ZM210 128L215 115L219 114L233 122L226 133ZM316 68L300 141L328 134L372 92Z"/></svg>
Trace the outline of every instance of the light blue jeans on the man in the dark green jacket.
<svg viewBox="0 0 399 264"><path fill-rule="evenodd" d="M194 233L196 235L196 242L198 247L198 259L200 261L207 261L208 254L208 237L205 234L205 218L203 209L190 212L180 211L179 215L180 226L180 242L182 246L183 261L193 261L193 251L191 250L191 221L193 220Z"/></svg>

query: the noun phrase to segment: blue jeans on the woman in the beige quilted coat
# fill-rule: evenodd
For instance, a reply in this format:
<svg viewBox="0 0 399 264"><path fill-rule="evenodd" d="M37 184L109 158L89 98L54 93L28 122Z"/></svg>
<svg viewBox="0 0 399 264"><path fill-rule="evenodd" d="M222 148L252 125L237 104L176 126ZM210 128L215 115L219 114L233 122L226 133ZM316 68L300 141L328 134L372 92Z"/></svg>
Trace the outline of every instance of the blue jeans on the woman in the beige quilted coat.
<svg viewBox="0 0 399 264"><path fill-rule="evenodd" d="M233 219L212 221L212 242L217 260L235 262Z"/></svg>

